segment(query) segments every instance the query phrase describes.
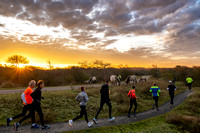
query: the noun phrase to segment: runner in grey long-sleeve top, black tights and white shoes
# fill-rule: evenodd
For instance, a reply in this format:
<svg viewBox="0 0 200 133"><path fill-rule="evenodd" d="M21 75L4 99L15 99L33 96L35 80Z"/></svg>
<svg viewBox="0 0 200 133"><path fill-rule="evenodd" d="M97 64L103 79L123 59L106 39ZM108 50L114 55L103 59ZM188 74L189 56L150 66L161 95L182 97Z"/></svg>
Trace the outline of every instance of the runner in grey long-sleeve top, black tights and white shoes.
<svg viewBox="0 0 200 133"><path fill-rule="evenodd" d="M83 115L85 115L85 120L88 124L88 127L91 127L93 122L89 122L88 121L88 117L87 117L87 110L86 110L86 105L87 102L89 100L87 94L85 93L85 88L81 87L81 93L78 94L78 96L75 98L78 102L80 102L80 108L81 108L81 112L80 115L75 117L72 120L69 120L69 126L72 127L72 123L76 120L78 120L79 118L82 118Z"/></svg>

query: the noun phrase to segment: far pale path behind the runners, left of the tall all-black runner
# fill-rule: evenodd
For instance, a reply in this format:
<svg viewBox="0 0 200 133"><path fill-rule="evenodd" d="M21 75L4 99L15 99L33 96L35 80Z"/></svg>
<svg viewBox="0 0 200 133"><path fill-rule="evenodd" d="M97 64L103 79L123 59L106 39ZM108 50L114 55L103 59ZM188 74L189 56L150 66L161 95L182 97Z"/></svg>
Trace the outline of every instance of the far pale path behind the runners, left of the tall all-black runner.
<svg viewBox="0 0 200 133"><path fill-rule="evenodd" d="M58 86L58 87L44 87L42 89L42 91L59 91L59 90L79 89L81 86L85 86L85 87L101 87L101 84ZM0 90L0 94L22 93L22 92L24 92L24 90L25 89Z"/></svg>

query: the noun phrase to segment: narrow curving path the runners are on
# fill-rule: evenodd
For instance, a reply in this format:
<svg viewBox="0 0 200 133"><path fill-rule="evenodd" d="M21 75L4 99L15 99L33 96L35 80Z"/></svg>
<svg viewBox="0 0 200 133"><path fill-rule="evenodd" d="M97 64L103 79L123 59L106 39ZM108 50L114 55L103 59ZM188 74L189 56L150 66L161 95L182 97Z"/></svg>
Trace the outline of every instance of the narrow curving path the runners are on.
<svg viewBox="0 0 200 133"><path fill-rule="evenodd" d="M181 94L178 94L175 96L174 101L175 101L175 106L178 106L184 100L189 96L190 92L187 90ZM164 103L159 107L160 111L156 110L148 110L142 113L138 113L137 117L131 117L128 118L127 116L118 116L116 119L112 122L108 121L107 119L99 119L98 124L92 125L91 128L96 128L96 127L105 127L105 126L111 126L111 125L119 125L119 124L128 124L136 121L141 121L150 117L158 116L164 113L169 112L171 109L169 107L169 101ZM72 116L74 117L74 116ZM30 132L30 133L55 133L55 132L64 132L64 131L77 131L77 130L83 130L83 129L88 129L87 124L84 120L82 121L76 121L73 123L73 127L69 127L68 123L55 123L55 124L48 124L51 126L50 130L43 131L41 129L36 129L36 130L31 130L30 125L23 125L19 127L18 133L23 133L23 132ZM2 133L16 133L16 131L13 130L13 126L11 125L10 127L2 126L0 127L0 132Z"/></svg>

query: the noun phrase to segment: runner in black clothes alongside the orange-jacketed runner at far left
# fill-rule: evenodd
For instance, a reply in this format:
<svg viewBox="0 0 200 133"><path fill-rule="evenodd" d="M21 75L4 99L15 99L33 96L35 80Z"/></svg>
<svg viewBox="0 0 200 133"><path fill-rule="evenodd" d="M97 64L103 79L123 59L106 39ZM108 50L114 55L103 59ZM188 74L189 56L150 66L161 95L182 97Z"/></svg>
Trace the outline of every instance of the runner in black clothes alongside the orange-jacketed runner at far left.
<svg viewBox="0 0 200 133"><path fill-rule="evenodd" d="M44 87L44 81L39 80L37 82L37 86L38 87L35 89L35 91L33 93L31 93L31 97L34 100L34 102L33 102L34 111L36 111L40 117L40 122L42 124L42 130L49 129L50 128L49 126L44 125L44 117L43 117L43 112L42 112L42 108L41 108L41 99L44 99L44 97L41 96L41 94L42 94L41 90Z"/></svg>

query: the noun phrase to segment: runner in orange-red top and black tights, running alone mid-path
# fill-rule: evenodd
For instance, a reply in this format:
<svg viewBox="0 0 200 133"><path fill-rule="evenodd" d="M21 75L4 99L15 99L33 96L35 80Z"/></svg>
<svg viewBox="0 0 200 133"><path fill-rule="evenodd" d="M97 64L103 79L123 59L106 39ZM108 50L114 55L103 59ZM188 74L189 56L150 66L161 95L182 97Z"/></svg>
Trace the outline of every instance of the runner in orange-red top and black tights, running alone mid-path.
<svg viewBox="0 0 200 133"><path fill-rule="evenodd" d="M130 108L129 108L129 111L128 111L128 117L131 117L130 115L130 112L131 112L131 109L133 107L133 104L135 105L135 108L134 108L134 112L133 112L133 115L136 117L136 109L137 109L137 101L136 101L136 95L135 95L135 86L132 86L132 89L128 92L128 97L130 97Z"/></svg>

